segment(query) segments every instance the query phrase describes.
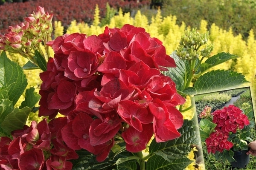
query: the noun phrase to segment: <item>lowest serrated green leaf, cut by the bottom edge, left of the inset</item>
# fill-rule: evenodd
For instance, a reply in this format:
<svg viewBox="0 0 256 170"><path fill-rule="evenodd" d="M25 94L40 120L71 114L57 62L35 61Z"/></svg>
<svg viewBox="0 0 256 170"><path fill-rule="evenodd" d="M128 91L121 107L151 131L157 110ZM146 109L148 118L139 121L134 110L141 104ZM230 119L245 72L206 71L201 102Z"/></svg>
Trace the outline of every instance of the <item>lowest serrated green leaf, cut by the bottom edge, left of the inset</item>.
<svg viewBox="0 0 256 170"><path fill-rule="evenodd" d="M167 161L162 156L154 155L148 159L146 170L183 170L191 162L187 157Z"/></svg>

